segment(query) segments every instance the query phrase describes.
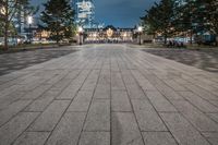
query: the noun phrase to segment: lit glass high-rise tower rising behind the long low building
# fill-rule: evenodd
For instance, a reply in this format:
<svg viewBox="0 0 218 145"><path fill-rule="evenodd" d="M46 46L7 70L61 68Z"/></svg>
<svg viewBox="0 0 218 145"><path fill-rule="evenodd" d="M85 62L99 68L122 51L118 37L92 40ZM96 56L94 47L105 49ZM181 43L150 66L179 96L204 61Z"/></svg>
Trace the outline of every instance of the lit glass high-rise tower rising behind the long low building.
<svg viewBox="0 0 218 145"><path fill-rule="evenodd" d="M95 5L93 0L72 0L75 11L75 22L84 28L96 28L101 25L95 22Z"/></svg>

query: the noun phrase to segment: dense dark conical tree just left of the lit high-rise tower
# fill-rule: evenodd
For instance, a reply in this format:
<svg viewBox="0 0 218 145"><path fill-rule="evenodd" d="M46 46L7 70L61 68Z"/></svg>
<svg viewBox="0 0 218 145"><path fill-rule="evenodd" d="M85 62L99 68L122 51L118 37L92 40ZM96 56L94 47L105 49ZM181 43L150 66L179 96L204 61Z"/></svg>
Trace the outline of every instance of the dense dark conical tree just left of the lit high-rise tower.
<svg viewBox="0 0 218 145"><path fill-rule="evenodd" d="M73 10L69 0L49 0L41 12L43 27L50 32L50 38L59 44L73 35Z"/></svg>

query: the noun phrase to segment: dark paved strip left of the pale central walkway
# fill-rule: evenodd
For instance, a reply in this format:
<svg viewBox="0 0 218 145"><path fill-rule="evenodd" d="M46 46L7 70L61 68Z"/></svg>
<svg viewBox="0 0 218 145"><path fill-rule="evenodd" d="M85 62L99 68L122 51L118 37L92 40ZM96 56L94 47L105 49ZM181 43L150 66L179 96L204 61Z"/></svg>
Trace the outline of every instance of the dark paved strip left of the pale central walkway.
<svg viewBox="0 0 218 145"><path fill-rule="evenodd" d="M69 48L50 48L0 55L0 75L25 69L74 52Z"/></svg>

